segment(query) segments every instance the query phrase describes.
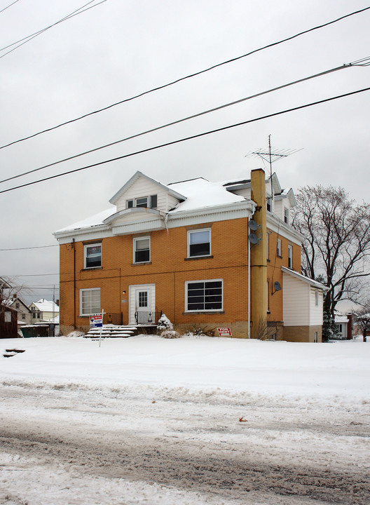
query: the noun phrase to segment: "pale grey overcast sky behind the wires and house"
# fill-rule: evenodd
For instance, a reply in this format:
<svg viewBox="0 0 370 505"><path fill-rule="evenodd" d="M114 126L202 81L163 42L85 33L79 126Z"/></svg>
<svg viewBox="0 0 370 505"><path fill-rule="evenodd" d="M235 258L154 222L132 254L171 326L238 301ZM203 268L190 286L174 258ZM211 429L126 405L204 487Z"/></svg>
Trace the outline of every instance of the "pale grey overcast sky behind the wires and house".
<svg viewBox="0 0 370 505"><path fill-rule="evenodd" d="M90 4L97 4L99 0ZM0 0L1 48L38 32L88 0ZM0 51L0 144L235 58L365 8L365 0L107 0ZM242 97L370 56L370 11L304 34L206 74L0 149L1 180ZM370 67L352 67L145 135L0 190L156 144L366 88ZM248 153L302 149L275 163L282 187L334 184L369 196L369 91L231 128L153 152L0 194L0 249L56 243L53 231L109 208L136 170L161 182L249 177ZM52 299L57 247L0 251L0 276L41 286ZM53 274L53 276L33 276ZM55 298L58 298L55 292Z"/></svg>

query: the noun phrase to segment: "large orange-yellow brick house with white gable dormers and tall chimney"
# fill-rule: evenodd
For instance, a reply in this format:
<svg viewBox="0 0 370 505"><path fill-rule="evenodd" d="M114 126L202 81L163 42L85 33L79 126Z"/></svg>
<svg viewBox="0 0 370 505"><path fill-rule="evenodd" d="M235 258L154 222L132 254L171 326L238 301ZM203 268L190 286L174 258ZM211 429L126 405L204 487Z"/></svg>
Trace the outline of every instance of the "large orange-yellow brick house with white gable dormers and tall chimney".
<svg viewBox="0 0 370 505"><path fill-rule="evenodd" d="M294 193L275 174L165 185L137 172L110 203L55 232L64 334L88 330L90 314L104 309L129 324L163 311L180 331L259 337L267 323L275 338L321 342L324 286L299 274Z"/></svg>

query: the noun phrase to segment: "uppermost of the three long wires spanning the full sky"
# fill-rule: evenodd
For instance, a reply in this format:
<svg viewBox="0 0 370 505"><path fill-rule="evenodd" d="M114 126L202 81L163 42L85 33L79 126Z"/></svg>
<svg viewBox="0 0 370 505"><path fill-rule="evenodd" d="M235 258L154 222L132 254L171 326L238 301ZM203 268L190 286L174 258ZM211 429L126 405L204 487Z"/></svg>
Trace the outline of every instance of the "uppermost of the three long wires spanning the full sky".
<svg viewBox="0 0 370 505"><path fill-rule="evenodd" d="M345 14L345 15L341 16L340 18L336 18L335 20L326 22L326 23L324 23L322 25L317 25L317 26L315 26L313 28L306 29L303 32L299 32L299 33L297 33L295 35L289 36L286 39L282 39L280 41L269 43L266 46L263 46L263 47L258 48L258 49L254 49L254 50L250 51L249 53L245 53L244 55L236 56L235 58L231 58L230 60L226 60L224 62L217 63L216 65L212 65L212 67L208 67L206 69L200 70L199 72L193 72L193 74L189 74L189 75L184 76L184 77L179 77L179 79L175 79L174 81L171 81L170 83L163 84L161 86L157 86L156 88L151 88L150 90L143 91L142 93L139 93L138 95L132 96L130 98L125 98L124 100L120 100L119 102L115 102L115 103L113 103L111 105L107 105L107 107L102 107L102 109L97 109L97 110L95 110L93 112L88 112L87 114L83 114L83 116L79 116L79 117L77 117L75 119L69 119L69 121L65 121L64 123L60 123L60 124L58 124L56 126L51 126L50 128L46 128L45 130L41 130L41 131L39 131L37 133L33 133L32 135L28 135L27 137L23 137L23 138L18 139L18 140L13 140L13 142L9 142L8 144L4 144L3 146L0 146L0 149L4 149L5 147L9 147L9 146L11 146L13 144L17 144L18 142L23 142L24 140L28 140L30 138L36 137L37 135L41 135L42 133L46 133L46 132L49 132L51 130L55 130L56 128L60 128L61 126L65 126L67 124L74 123L75 121L79 121L80 119L84 119L85 117L92 116L93 114L98 114L99 112L103 112L104 110L111 109L111 107L116 107L116 105L121 105L121 104L123 104L125 102L130 102L131 100L135 100L136 98L142 97L144 95L148 95L149 93L153 93L154 91L158 91L160 89L167 88L168 86L172 86L173 84L179 83L181 81L185 81L186 79L191 79L191 77L195 77L195 76L198 76L200 74L205 74L205 72L209 72L210 70L213 70L213 69L215 69L217 67L221 67L222 65L227 65L228 63L231 63L231 62L234 62L234 61L237 61L237 60L241 60L242 58L246 58L247 56L250 56L250 55L252 55L254 53L258 53L261 50L268 49L268 48L271 48L273 46L278 46L281 43L290 41L292 39L296 39L296 37L299 37L301 35L307 34L309 32L313 32L314 30L317 30L317 29L320 29L320 28L327 27L327 26L332 25L332 24L334 24L334 23L336 23L338 21L341 21L341 20L343 20L345 18L349 18L352 15L359 14L359 13L362 13L364 11L368 11L369 9L370 9L370 7L365 7L365 8L359 9L358 11L354 11L352 13Z"/></svg>

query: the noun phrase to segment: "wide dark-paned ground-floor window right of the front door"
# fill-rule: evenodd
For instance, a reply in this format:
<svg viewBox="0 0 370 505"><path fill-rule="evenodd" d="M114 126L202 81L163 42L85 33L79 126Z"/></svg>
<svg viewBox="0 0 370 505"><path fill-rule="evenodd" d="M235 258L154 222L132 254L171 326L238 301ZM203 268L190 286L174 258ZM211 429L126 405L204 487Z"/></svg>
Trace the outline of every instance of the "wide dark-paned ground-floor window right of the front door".
<svg viewBox="0 0 370 505"><path fill-rule="evenodd" d="M223 280L186 281L185 311L221 311Z"/></svg>

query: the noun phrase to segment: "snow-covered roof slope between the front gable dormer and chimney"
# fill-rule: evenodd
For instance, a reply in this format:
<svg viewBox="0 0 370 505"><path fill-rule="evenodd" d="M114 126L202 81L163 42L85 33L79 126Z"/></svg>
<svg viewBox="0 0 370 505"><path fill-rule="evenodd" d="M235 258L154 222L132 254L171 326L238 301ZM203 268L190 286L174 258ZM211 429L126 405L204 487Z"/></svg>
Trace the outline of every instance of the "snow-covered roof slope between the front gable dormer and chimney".
<svg viewBox="0 0 370 505"><path fill-rule="evenodd" d="M170 213L245 201L244 196L230 193L222 183L210 182L203 179L203 177L183 182L173 182L169 184L169 186L174 189L174 191L186 196L186 200L179 203Z"/></svg>

